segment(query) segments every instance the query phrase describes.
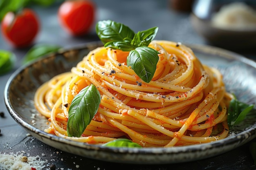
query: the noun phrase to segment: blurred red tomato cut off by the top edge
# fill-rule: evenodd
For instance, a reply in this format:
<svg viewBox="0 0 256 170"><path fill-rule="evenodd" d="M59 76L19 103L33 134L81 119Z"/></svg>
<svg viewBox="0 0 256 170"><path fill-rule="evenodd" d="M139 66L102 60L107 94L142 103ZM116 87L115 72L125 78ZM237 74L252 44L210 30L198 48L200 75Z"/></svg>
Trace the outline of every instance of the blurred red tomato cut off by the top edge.
<svg viewBox="0 0 256 170"><path fill-rule="evenodd" d="M95 7L90 0L67 0L58 10L61 25L72 35L84 35L94 22Z"/></svg>

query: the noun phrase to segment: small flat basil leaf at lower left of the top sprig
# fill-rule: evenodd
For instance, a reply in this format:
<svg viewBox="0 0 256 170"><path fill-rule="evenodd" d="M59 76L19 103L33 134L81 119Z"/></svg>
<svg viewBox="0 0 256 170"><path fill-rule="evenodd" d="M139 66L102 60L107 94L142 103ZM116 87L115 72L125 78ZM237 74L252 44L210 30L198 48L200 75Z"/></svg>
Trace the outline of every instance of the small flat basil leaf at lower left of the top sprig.
<svg viewBox="0 0 256 170"><path fill-rule="evenodd" d="M111 49L118 49L121 51L131 51L134 48L130 45L130 42L126 42L126 41L110 41L107 42L105 45L105 47L110 47Z"/></svg>

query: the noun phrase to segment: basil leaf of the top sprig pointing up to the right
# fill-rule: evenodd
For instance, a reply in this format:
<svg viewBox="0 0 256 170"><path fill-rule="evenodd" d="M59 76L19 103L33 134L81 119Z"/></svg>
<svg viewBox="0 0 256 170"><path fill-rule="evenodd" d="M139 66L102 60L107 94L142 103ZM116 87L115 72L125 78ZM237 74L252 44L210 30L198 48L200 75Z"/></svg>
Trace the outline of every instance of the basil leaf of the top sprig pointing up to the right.
<svg viewBox="0 0 256 170"><path fill-rule="evenodd" d="M153 27L145 31L139 31L135 34L134 38L132 39L132 46L148 46L150 42L155 38L157 31L158 27Z"/></svg>

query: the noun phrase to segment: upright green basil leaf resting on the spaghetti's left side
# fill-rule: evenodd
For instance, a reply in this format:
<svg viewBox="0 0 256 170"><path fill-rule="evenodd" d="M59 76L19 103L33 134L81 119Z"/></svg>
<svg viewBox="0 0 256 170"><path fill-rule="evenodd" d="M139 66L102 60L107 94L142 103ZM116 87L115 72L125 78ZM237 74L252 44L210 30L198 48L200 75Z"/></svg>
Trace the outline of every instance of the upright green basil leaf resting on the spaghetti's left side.
<svg viewBox="0 0 256 170"><path fill-rule="evenodd" d="M99 109L101 95L91 84L83 88L72 100L68 110L67 135L81 137Z"/></svg>

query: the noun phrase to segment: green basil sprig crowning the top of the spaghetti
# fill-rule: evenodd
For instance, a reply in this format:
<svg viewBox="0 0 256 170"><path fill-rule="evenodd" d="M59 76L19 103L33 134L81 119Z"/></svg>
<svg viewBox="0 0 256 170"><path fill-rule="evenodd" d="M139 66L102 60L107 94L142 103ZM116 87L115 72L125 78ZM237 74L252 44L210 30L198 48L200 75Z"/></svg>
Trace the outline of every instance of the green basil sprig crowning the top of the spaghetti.
<svg viewBox="0 0 256 170"><path fill-rule="evenodd" d="M154 76L159 60L159 52L148 47L155 38L158 27L134 33L128 26L111 20L99 21L96 32L105 47L130 51L127 57L127 66L144 81L150 82Z"/></svg>

